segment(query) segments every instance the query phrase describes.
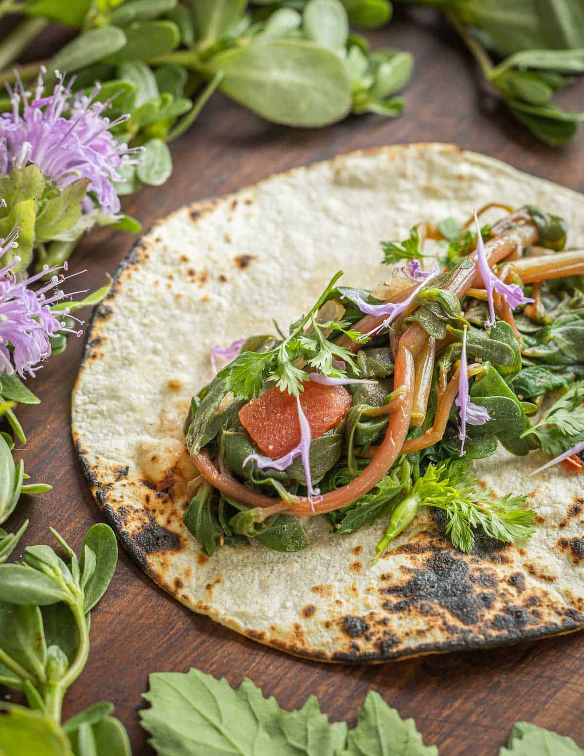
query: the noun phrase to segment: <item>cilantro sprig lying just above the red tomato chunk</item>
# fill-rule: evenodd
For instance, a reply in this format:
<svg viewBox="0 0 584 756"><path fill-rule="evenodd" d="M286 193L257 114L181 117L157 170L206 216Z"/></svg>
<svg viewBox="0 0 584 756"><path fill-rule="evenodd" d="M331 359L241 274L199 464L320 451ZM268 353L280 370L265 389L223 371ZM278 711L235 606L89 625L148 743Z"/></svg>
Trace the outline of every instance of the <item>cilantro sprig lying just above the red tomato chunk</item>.
<svg viewBox="0 0 584 756"><path fill-rule="evenodd" d="M218 376L224 381L227 390L237 398L249 400L261 392L261 387L267 381L275 383L282 392L298 396L304 390L302 384L309 377L306 370L294 364L300 357L304 358L307 365L326 376L338 378L346 374L345 370L333 366L333 359L344 361L351 371L357 370L351 352L330 341L326 331L340 331L352 340L356 340L360 333L348 328L345 321L319 324L315 318L317 311L335 289L335 283L342 272L338 271L332 277L311 310L292 325L289 336L274 349L270 349L270 352L242 352L220 370ZM308 323L311 327L304 332Z"/></svg>

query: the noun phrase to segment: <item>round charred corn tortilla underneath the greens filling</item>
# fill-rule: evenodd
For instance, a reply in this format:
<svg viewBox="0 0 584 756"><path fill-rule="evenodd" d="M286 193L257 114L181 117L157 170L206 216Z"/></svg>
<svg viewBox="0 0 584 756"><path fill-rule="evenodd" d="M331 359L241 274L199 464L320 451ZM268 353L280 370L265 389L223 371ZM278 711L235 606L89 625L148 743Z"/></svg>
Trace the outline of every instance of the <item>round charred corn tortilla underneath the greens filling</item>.
<svg viewBox="0 0 584 756"><path fill-rule="evenodd" d="M468 555L431 513L375 566L384 520L340 536L308 518L304 551L224 546L211 559L182 524L196 476L182 426L191 396L212 377L210 342L295 320L339 268L340 283L375 287L388 278L380 240L406 237L421 220L462 221L492 201L561 215L567 246L584 243L582 195L451 145L413 144L341 155L194 203L134 247L88 330L73 437L98 507L159 586L254 640L330 662L584 627L584 478L561 466L530 478L545 461L539 452L500 448L475 463L480 482L527 494L538 516L529 541L477 538Z"/></svg>

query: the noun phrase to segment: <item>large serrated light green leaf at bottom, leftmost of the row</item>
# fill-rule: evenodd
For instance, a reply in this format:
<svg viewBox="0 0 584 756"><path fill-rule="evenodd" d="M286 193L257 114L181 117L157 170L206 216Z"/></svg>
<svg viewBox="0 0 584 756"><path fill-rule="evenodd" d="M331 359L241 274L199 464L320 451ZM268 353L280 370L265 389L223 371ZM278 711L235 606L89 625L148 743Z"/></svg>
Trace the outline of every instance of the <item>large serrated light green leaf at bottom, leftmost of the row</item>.
<svg viewBox="0 0 584 756"><path fill-rule="evenodd" d="M156 673L144 698L142 726L159 756L335 756L345 742L345 723L329 724L314 698L289 713L250 680L233 690L196 669Z"/></svg>

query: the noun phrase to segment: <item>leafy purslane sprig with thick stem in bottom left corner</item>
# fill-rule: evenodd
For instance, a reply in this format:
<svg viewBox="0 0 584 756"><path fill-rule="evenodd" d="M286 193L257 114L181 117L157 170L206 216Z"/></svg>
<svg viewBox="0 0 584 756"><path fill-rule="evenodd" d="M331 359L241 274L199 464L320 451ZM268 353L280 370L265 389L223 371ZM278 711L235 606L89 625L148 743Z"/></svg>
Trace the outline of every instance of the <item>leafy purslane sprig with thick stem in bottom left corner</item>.
<svg viewBox="0 0 584 756"><path fill-rule="evenodd" d="M12 538L0 533L0 562L24 528L26 523ZM116 569L116 537L108 525L94 525L78 558L51 532L64 558L51 547L29 546L22 563L0 564L0 683L23 692L29 705L0 704L0 754L131 756L108 702L61 725L63 696L88 659L90 612Z"/></svg>

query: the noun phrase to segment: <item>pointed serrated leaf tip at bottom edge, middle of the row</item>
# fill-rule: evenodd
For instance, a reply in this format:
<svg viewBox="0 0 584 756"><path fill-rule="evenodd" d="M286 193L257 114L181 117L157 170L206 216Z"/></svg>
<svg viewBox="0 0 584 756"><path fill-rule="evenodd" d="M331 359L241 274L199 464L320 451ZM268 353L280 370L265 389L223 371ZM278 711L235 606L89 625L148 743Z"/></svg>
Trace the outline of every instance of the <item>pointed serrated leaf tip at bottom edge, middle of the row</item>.
<svg viewBox="0 0 584 756"><path fill-rule="evenodd" d="M424 745L414 720L403 720L375 691L369 691L357 717L338 756L438 756L435 745Z"/></svg>

